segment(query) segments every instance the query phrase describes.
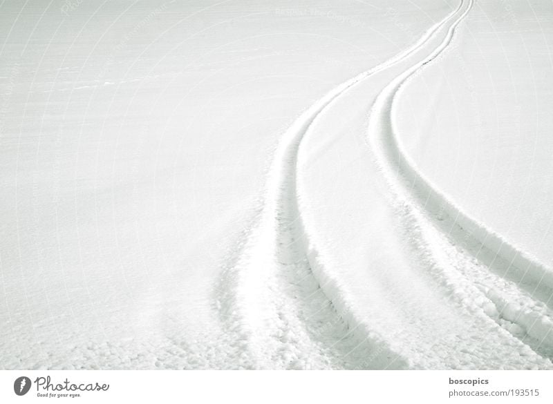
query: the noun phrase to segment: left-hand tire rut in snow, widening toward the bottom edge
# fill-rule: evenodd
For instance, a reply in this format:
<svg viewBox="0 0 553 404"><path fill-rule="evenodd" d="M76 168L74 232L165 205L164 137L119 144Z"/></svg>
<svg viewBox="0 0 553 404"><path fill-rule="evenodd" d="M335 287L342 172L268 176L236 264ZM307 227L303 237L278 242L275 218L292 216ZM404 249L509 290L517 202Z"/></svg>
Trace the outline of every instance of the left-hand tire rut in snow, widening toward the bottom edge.
<svg viewBox="0 0 553 404"><path fill-rule="evenodd" d="M404 52L331 90L281 138L259 211L217 288L217 309L236 337L233 344L241 352L245 367L410 366L409 358L398 354L389 341L348 310L335 281L321 267L299 213L297 155L310 126L335 99L424 49L446 24L460 21L463 6L461 3Z"/></svg>

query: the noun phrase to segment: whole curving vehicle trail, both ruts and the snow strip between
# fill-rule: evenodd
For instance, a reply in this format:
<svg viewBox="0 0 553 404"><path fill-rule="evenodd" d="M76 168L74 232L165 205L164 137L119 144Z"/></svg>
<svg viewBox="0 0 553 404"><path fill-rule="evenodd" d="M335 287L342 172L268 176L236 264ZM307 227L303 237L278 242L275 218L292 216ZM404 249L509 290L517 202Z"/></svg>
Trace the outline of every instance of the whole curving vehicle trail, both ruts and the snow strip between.
<svg viewBox="0 0 553 404"><path fill-rule="evenodd" d="M447 48L472 3L462 2L411 48L331 90L281 138L257 214L231 252L216 291L221 319L240 352L237 367L551 367L543 358L553 347L550 312L534 299L547 296L542 285L550 287L550 274L435 191L402 154L393 133L398 90ZM359 152L363 158L355 168L366 169L362 176L384 173L386 195L376 181L359 191L353 180L359 172L336 173L328 152L356 150L357 135L327 136L328 123L351 117L353 133L363 133L359 111L371 100L371 151ZM341 195L357 203L351 205L352 218L341 224L326 220L339 221L347 201L333 204L326 191L313 192L314 173L337 175ZM382 227L388 230L375 230ZM444 235L446 227L455 240L471 234L463 249ZM344 228L357 236L355 242L340 238ZM507 280L470 256L476 251L473 238L485 244L487 254L512 262ZM357 253L364 248L371 252ZM401 257L386 256L386 249ZM363 260L375 255L382 257ZM498 265L492 261L491 267ZM527 282L527 290L513 280Z"/></svg>

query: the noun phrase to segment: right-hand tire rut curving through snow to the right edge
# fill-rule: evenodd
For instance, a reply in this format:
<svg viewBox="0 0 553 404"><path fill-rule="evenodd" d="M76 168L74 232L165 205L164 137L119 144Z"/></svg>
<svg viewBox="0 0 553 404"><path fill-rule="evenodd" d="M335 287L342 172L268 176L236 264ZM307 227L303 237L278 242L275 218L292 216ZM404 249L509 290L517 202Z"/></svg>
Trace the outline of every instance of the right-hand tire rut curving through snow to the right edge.
<svg viewBox="0 0 553 404"><path fill-rule="evenodd" d="M470 218L440 193L415 168L394 128L395 100L404 85L446 50L473 3L471 0L449 28L441 46L382 90L371 110L368 137L382 171L401 201L404 229L415 240L411 244L415 250L425 251L420 256L427 260L433 276L467 309L483 311L535 352L553 358L553 272Z"/></svg>

